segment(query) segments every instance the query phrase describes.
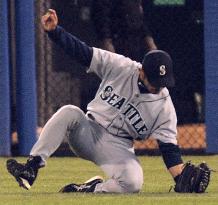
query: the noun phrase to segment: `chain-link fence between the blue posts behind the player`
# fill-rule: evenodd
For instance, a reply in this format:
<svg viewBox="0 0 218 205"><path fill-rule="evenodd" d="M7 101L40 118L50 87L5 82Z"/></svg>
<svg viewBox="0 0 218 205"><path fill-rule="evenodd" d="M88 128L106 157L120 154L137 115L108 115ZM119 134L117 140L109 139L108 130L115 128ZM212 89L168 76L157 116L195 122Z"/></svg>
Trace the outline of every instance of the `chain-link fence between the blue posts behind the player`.
<svg viewBox="0 0 218 205"><path fill-rule="evenodd" d="M204 59L203 0L146 0L145 18L158 48L174 59L176 87L170 90L178 115L181 148L204 150ZM74 104L84 111L99 85L95 76L85 74L52 44L40 26L40 17L54 8L59 24L91 46L97 46L91 18L91 0L39 0L36 7L36 53L38 123L43 127L61 106ZM157 148L154 140L135 142L138 150Z"/></svg>

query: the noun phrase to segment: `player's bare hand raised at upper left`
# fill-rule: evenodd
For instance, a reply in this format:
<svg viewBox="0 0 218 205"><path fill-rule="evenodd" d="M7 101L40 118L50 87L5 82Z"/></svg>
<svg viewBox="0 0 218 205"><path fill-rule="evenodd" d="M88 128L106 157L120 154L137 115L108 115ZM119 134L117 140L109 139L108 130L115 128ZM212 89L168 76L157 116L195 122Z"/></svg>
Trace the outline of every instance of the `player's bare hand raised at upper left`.
<svg viewBox="0 0 218 205"><path fill-rule="evenodd" d="M58 17L56 11L49 9L41 18L42 27L45 31L52 31L58 25Z"/></svg>

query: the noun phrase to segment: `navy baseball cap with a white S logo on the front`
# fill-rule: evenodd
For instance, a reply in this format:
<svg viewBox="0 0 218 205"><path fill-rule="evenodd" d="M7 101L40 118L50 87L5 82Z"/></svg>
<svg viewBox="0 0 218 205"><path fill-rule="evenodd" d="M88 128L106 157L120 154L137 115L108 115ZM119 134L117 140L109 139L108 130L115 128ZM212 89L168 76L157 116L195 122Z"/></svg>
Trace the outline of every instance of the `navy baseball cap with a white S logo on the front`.
<svg viewBox="0 0 218 205"><path fill-rule="evenodd" d="M142 67L151 85L155 87L173 87L173 62L170 55L162 50L152 50L145 54Z"/></svg>

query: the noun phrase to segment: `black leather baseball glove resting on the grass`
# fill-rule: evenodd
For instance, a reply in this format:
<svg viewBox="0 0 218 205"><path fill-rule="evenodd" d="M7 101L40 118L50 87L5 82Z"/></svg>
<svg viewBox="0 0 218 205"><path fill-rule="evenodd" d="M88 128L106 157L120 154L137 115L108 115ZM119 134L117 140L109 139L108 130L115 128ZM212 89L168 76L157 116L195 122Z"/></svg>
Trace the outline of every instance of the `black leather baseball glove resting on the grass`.
<svg viewBox="0 0 218 205"><path fill-rule="evenodd" d="M205 162L194 165L187 162L174 187L180 193L204 193L210 182L211 169Z"/></svg>

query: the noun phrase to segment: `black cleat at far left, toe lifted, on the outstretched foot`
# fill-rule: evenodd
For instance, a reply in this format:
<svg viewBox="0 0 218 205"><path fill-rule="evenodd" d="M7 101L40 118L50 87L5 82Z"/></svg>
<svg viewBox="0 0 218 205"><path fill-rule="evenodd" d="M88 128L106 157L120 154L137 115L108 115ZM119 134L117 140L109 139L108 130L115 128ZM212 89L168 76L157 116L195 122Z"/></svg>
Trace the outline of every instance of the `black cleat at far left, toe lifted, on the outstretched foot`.
<svg viewBox="0 0 218 205"><path fill-rule="evenodd" d="M42 159L40 156L30 157L26 164L18 163L14 159L7 160L7 170L15 177L20 187L29 190L33 185Z"/></svg>

